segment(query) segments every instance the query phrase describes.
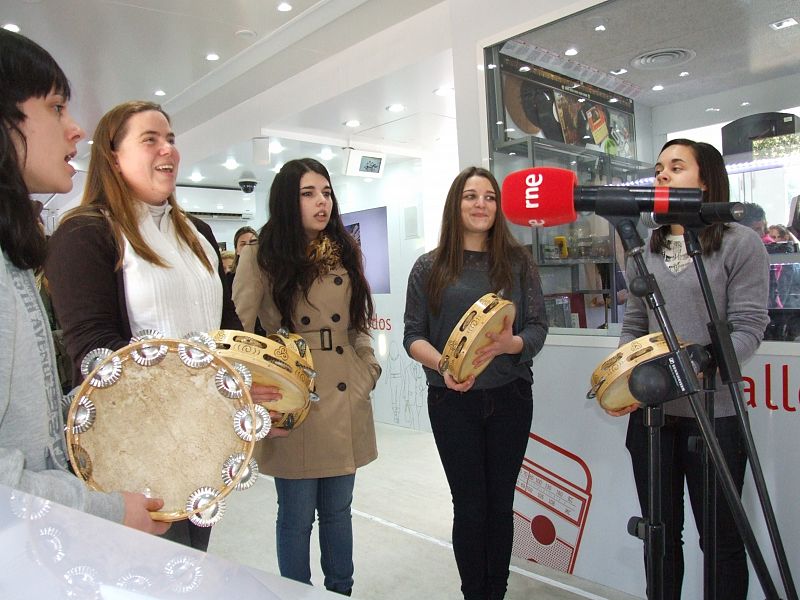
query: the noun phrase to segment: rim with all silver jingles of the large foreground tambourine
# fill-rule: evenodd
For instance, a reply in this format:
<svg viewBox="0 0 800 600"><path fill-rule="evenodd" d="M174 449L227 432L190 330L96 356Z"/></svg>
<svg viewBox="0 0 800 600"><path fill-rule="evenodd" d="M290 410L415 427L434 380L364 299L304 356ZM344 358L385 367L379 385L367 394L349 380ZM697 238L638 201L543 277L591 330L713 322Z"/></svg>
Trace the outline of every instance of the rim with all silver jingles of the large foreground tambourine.
<svg viewBox="0 0 800 600"><path fill-rule="evenodd" d="M78 477L97 491L135 491L105 490L91 476L91 457L81 447L80 438L97 418L97 410L92 402L94 390L103 389L116 383L126 364L135 362L140 366L157 364L162 355L174 352L188 368L216 368L215 384L217 391L233 400L237 406L232 415L231 426L241 440L241 447L220 464L221 489L212 485L199 484L186 499L183 510L151 512L156 521L178 521L188 518L196 525L210 526L216 523L225 508L225 497L234 489L250 487L258 476L258 465L253 459L255 443L269 432L271 421L269 412L255 404L250 397L250 373L244 365L232 363L219 356L206 343L201 334L187 336L188 339L159 338L157 332L137 335L131 344L112 352L100 348L92 350L84 358L82 368L84 381L74 394L67 414L67 451L71 464ZM255 431L254 431L255 429ZM88 469L84 468L87 466ZM86 476L85 472L89 475ZM216 482L214 482L216 484Z"/></svg>

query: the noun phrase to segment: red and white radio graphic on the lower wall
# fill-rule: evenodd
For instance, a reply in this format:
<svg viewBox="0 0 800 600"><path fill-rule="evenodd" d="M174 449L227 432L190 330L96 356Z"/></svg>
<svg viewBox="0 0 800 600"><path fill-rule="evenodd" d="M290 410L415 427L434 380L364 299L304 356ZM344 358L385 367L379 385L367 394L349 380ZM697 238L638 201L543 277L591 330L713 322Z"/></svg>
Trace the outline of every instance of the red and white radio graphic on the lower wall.
<svg viewBox="0 0 800 600"><path fill-rule="evenodd" d="M530 434L517 477L512 554L572 573L592 500L586 463Z"/></svg>

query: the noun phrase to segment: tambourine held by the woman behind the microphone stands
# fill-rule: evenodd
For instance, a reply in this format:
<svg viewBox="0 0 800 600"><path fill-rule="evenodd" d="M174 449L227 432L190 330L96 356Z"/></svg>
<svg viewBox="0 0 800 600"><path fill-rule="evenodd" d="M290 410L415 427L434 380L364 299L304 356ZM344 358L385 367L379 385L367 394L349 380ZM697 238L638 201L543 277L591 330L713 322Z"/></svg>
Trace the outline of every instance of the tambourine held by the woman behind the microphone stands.
<svg viewBox="0 0 800 600"><path fill-rule="evenodd" d="M620 346L592 373L591 389L586 397L597 398L606 410L618 411L637 403L628 389L633 368L643 362L667 354L669 346L662 333L651 333Z"/></svg>

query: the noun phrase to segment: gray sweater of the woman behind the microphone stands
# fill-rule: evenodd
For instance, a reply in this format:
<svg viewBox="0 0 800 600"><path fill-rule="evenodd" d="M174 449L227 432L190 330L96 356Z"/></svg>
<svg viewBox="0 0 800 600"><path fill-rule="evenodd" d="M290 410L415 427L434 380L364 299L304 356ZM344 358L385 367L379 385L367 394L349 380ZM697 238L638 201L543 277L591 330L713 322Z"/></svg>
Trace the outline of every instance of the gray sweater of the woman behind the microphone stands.
<svg viewBox="0 0 800 600"><path fill-rule="evenodd" d="M645 263L658 282L667 315L678 338L689 344L711 343L706 327L708 312L694 266L673 273L667 268L663 256L650 251L649 242L646 248ZM717 312L731 325L733 347L741 364L758 349L769 323L769 258L764 243L749 227L731 224L723 235L722 247L711 255L704 254L703 264ZM628 282L635 276L634 261L628 260ZM660 331L654 313L647 309L642 298L631 294L625 308L620 346L654 331ZM681 417L694 416L688 398L668 402L664 405L664 412ZM714 416L734 414L730 391L717 377Z"/></svg>

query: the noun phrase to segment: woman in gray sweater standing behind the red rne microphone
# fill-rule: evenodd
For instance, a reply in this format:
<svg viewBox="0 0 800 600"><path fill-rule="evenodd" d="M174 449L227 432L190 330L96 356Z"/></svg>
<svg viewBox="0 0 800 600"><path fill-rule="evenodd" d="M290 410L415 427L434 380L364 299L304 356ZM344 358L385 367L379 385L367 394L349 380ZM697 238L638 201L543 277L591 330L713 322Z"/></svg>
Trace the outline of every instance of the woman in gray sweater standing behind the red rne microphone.
<svg viewBox="0 0 800 600"><path fill-rule="evenodd" d="M729 185L725 163L710 144L675 139L661 149L655 167L656 185L700 188L704 202L728 202ZM757 205L752 205L757 206ZM708 345L706 328L709 316L700 284L686 253L683 227L665 225L653 231L644 253L649 271L655 276L664 296L668 315L679 339L690 344ZM738 223L716 224L700 234L703 263L714 294L720 318L731 326L731 338L740 362L750 358L761 343L767 316L769 262L759 235ZM628 281L636 277L633 261L628 261ZM620 346L660 331L653 313L642 298L631 295L622 323ZM611 412L630 414L626 446L631 454L633 474L642 514L648 507L648 431L638 405ZM696 523L703 522L709 499L703 494L702 453L689 448L689 439L700 437L700 430L688 398L664 404L665 425L661 428L662 518L665 525L664 598L680 598L683 582L683 488ZM738 417L727 386L717 377L714 394L714 427L725 461L741 496L747 456ZM702 527L701 527L702 529ZM733 515L720 492L717 494L718 598L747 597L748 571L744 543ZM703 547L703 532L700 531Z"/></svg>

